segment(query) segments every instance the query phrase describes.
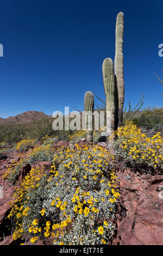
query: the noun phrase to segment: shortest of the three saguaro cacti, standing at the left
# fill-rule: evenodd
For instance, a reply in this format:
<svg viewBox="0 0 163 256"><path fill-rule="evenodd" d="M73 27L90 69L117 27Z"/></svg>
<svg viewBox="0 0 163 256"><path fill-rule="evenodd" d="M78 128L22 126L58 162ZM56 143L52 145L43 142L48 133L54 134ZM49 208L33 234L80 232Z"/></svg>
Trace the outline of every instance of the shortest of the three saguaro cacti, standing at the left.
<svg viewBox="0 0 163 256"><path fill-rule="evenodd" d="M93 111L94 111L94 97L92 92L87 91L84 95L84 111L86 112L86 135L87 141L92 142L93 133Z"/></svg>

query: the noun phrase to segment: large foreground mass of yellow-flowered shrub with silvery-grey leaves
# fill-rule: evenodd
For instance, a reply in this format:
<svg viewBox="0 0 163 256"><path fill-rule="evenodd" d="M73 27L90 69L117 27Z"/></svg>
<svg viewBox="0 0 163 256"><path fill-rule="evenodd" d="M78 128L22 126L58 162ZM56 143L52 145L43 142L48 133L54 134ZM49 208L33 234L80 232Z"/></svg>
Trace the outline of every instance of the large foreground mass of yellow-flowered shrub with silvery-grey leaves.
<svg viewBox="0 0 163 256"><path fill-rule="evenodd" d="M120 196L111 157L99 147L77 146L54 155L51 174L32 169L11 202L12 237L53 237L54 245L108 243Z"/></svg>

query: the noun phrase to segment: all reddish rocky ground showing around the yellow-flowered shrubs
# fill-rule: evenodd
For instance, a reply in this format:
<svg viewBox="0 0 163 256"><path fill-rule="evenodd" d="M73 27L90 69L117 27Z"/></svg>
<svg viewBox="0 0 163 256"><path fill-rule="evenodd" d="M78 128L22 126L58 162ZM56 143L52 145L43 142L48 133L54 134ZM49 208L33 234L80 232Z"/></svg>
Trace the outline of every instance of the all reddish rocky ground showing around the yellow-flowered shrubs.
<svg viewBox="0 0 163 256"><path fill-rule="evenodd" d="M81 143L84 143L81 142ZM59 142L56 147L68 147L67 142ZM104 143L101 145L105 147ZM15 187L2 178L5 168L12 160L18 159L18 153L0 154L0 185L3 187L3 198L0 198L0 245L20 245L22 241L13 241L11 225L7 216L10 211L9 202ZM35 166L49 169L51 162L36 162ZM17 176L20 181L29 172L27 164ZM163 175L149 175L135 172L124 163L116 165L118 188L121 197L115 225L115 237L111 245L163 245ZM0 187L1 188L1 187ZM26 243L30 245L30 242ZM50 245L51 240L37 241L37 245Z"/></svg>

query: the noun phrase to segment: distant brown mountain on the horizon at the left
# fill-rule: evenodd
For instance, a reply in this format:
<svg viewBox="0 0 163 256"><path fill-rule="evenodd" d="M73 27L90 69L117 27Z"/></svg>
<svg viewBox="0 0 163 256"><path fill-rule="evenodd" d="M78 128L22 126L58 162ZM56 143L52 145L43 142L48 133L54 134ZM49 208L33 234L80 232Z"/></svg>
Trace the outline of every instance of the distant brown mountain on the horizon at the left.
<svg viewBox="0 0 163 256"><path fill-rule="evenodd" d="M43 112L27 111L22 114L18 114L15 117L0 118L0 125L31 123L33 121L51 117L52 115L46 115Z"/></svg>

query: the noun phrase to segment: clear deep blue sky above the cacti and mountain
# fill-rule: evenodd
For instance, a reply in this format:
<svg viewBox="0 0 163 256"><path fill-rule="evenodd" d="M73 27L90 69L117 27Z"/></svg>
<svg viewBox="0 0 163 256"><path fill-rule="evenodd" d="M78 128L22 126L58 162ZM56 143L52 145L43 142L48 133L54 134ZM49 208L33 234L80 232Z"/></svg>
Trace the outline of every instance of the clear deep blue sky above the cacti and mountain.
<svg viewBox="0 0 163 256"><path fill-rule="evenodd" d="M83 109L91 90L104 99L102 63L114 60L115 23L124 13L124 106L162 107L163 2L110 0L1 1L0 117L26 111Z"/></svg>

